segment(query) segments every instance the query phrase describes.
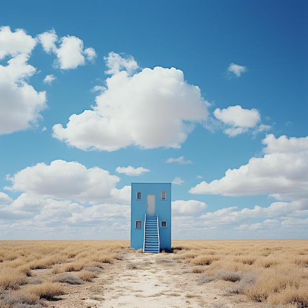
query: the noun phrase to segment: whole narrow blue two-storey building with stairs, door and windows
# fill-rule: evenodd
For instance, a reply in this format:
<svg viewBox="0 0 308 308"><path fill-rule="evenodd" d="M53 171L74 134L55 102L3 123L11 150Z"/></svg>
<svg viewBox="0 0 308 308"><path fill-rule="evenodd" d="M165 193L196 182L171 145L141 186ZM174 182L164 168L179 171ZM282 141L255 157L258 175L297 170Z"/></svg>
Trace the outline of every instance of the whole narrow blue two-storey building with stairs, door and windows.
<svg viewBox="0 0 308 308"><path fill-rule="evenodd" d="M132 183L130 247L171 250L171 183Z"/></svg>

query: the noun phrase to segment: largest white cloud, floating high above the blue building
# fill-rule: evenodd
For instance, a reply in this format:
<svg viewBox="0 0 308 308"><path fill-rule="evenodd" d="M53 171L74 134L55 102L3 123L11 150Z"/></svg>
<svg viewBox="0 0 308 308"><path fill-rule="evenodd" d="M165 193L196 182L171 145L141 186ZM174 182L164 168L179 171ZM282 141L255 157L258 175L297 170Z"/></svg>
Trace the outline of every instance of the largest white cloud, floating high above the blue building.
<svg viewBox="0 0 308 308"><path fill-rule="evenodd" d="M93 110L70 116L66 128L54 125L53 136L82 150L180 148L194 123L208 115L200 89L175 68L145 68L129 76L119 70L135 68L132 59L115 55L107 58L114 75L107 78Z"/></svg>

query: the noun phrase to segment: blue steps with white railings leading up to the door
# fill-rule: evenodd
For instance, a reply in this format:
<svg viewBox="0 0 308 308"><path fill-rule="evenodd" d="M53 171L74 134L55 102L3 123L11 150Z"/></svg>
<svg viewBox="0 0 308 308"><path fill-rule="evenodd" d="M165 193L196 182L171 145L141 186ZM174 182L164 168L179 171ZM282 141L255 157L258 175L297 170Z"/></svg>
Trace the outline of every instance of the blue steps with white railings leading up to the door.
<svg viewBox="0 0 308 308"><path fill-rule="evenodd" d="M159 252L158 216L145 215L143 252Z"/></svg>

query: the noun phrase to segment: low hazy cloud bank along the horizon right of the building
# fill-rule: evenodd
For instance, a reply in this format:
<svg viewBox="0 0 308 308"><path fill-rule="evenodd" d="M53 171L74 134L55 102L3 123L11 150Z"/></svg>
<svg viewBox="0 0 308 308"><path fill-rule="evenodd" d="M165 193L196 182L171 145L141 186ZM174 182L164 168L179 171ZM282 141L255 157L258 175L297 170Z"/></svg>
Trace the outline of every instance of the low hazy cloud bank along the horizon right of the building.
<svg viewBox="0 0 308 308"><path fill-rule="evenodd" d="M272 238L274 230L276 238L303 238L308 227L308 200L305 202L274 202L268 207L254 206L252 209L238 209L237 206L225 207L214 212L206 212L204 204L192 200L195 211L189 212L183 204L178 213L177 204L173 207L173 234L183 239L236 239ZM175 215L174 215L175 214Z"/></svg>

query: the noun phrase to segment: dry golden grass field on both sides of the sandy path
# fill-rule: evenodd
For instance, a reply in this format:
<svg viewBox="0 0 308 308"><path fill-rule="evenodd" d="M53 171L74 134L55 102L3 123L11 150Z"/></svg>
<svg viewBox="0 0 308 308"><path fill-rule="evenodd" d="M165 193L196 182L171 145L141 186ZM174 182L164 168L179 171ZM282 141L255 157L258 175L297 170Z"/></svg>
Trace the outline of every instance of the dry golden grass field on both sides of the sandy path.
<svg viewBox="0 0 308 308"><path fill-rule="evenodd" d="M240 294L266 307L308 307L308 240L179 240L172 245L172 253L155 256L155 268L179 265L179 279L189 277L198 290L228 281L226 297ZM138 256L144 254L129 249L129 241L0 241L0 308L69 307L61 304L63 294L85 293L99 278L100 284L112 283L116 265L130 273L145 271L151 259L132 262ZM70 307L111 307L103 296L96 300L93 306Z"/></svg>

